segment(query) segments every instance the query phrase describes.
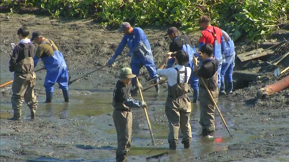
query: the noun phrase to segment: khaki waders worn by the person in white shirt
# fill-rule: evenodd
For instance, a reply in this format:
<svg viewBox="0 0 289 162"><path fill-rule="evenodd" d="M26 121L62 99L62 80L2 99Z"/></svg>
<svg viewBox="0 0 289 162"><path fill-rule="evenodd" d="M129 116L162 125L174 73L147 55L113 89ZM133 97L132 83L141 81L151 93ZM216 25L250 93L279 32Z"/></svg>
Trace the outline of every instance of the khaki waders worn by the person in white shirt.
<svg viewBox="0 0 289 162"><path fill-rule="evenodd" d="M184 148L189 148L190 142L192 141L192 129L189 123L192 107L190 98L188 97L189 85L187 83L187 68L185 68L185 71L179 71L177 68L175 69L178 72L177 84L169 86L165 105L165 112L170 129L168 135L170 150L176 149L179 139L179 129L181 129L183 134L182 143L184 144ZM184 83L180 83L179 74L181 73L185 74Z"/></svg>

